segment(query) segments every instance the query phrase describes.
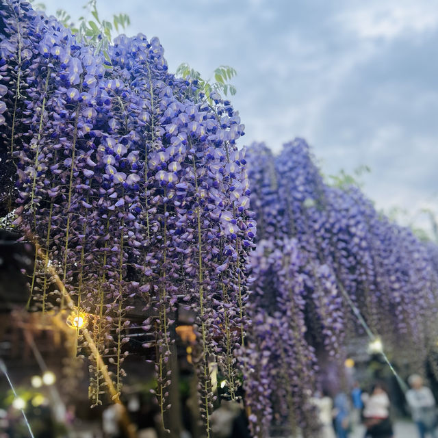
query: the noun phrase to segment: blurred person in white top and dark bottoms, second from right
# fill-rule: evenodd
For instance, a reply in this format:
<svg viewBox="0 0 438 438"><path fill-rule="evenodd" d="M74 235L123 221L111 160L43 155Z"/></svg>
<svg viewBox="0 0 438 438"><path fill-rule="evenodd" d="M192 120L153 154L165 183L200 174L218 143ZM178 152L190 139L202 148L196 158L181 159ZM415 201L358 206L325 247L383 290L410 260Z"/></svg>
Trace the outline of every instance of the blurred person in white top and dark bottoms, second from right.
<svg viewBox="0 0 438 438"><path fill-rule="evenodd" d="M367 429L365 437L392 438L391 419L389 418L389 397L380 383L374 384L371 395L365 398L363 424Z"/></svg>

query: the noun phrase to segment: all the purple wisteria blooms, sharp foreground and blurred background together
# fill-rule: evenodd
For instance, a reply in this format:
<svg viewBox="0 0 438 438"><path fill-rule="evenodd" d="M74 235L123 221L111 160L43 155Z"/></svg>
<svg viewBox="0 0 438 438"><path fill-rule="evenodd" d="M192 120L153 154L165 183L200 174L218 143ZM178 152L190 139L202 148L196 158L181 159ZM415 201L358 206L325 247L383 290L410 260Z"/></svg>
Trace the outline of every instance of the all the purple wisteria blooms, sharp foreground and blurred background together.
<svg viewBox="0 0 438 438"><path fill-rule="evenodd" d="M245 156L231 103L168 73L157 38L119 36L102 53L25 1L0 7L0 202L44 248L31 279L41 310L53 306L50 263L92 315L118 391L139 297L162 411L175 308L196 315L207 435L213 358L231 398L244 372L255 437L272 422L311 434L317 349L341 361L346 294L374 333L393 343L405 333L425 352L436 246L379 216L357 188L326 185L303 140L278 157L262 144ZM99 404L105 384L90 361Z"/></svg>

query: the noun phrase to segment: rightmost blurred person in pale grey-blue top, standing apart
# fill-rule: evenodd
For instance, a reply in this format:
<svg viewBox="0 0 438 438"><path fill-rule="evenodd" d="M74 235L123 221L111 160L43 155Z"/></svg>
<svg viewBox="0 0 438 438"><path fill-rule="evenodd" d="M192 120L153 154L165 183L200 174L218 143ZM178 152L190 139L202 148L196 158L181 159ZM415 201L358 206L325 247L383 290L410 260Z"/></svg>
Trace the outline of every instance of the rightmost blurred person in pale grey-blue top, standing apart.
<svg viewBox="0 0 438 438"><path fill-rule="evenodd" d="M417 424L420 438L430 433L433 438L438 438L438 417L435 398L432 391L423 384L422 376L412 374L408 378L411 389L406 393L406 400L412 413L412 419Z"/></svg>

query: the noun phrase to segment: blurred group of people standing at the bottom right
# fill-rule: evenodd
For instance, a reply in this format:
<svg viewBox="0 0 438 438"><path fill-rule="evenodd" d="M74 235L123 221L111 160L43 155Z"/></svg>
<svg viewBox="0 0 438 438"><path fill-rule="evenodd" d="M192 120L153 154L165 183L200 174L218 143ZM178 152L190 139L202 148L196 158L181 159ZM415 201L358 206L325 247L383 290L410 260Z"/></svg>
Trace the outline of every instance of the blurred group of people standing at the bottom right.
<svg viewBox="0 0 438 438"><path fill-rule="evenodd" d="M406 401L417 425L418 437L438 438L438 411L432 391L417 374L409 377ZM364 438L395 438L391 402L383 383L376 382L369 392L358 382L350 394L340 391L333 398L327 391L313 398L318 409L322 438L348 438L355 426L363 424Z"/></svg>

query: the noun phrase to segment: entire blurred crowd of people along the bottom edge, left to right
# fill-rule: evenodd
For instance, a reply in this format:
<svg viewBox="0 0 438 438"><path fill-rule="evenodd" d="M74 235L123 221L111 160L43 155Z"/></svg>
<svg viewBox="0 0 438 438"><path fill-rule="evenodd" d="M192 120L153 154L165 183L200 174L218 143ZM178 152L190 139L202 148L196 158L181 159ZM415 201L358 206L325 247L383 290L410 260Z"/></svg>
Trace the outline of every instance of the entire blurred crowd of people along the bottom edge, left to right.
<svg viewBox="0 0 438 438"><path fill-rule="evenodd" d="M417 374L411 375L408 383L410 389L404 396L412 420L417 426L417 437L438 438L438 411L432 391L424 385L423 378ZM338 391L337 394L322 391L321 394L316 394L312 401L318 414L320 438L349 438L359 424L365 429L363 438L398 438L394 435L392 418L394 407L391 406L388 391L381 382L374 383L369 391L364 391L358 382L352 385L350 391ZM126 402L129 415L138 427L138 438L157 438L159 433L156 423L159 420L156 418L157 411L153 409L153 405L142 401L136 395L130 396ZM30 413L29 415L36 438L51 438L60 432L51 422L48 406L38 407L36 418ZM123 438L125 435L120 428L120 415L120 405L111 404L101 415L103 435L96 435L91 430L86 434L67 433L67 427L64 436ZM187 415L183 415L183 419L187 421L183 421L180 437L196 437L194 431L189 433L190 425L186 417ZM39 421L37 422L36 419ZM66 407L64 426L73 426L75 420L75 408ZM220 406L211 414L210 420L214 438L250 438L248 418L242 402L222 400ZM0 438L27 436L27 430L24 428L20 411L12 407L8 412L0 409ZM352 435L357 437L360 430L361 428L355 430Z"/></svg>

